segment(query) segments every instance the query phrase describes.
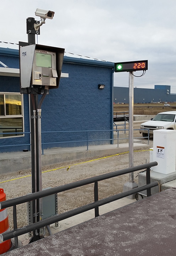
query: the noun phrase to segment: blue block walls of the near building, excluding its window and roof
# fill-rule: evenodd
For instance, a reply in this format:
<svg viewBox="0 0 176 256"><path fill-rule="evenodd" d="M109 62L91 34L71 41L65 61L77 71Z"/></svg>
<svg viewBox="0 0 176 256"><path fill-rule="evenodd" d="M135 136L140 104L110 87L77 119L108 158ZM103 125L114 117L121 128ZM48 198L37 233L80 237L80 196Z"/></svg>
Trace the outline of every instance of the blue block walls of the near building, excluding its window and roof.
<svg viewBox="0 0 176 256"><path fill-rule="evenodd" d="M19 68L18 51L12 50L9 55L7 50L5 53L1 51L0 60L9 68ZM69 78L61 78L59 88L50 90L42 104L42 132L47 132L43 136L44 143L47 143L44 148L86 145L86 142L78 141L87 140L87 130L110 130L113 125L113 64L66 57L62 73L68 73ZM0 76L0 84L0 91L20 92L20 78ZM104 84L105 88L98 89L98 84ZM40 100L41 95L38 98ZM28 95L23 95L23 102L24 132L29 132ZM51 131L55 133L48 133ZM57 133L58 131L62 133ZM110 138L110 131L88 132L89 140L97 140L92 144L109 144ZM98 141L101 139L106 141ZM63 141L67 143L60 143ZM71 141L74 143L70 143ZM30 144L29 134L24 137L0 139L0 146L14 144ZM23 149L30 149L30 146L0 147L0 152Z"/></svg>

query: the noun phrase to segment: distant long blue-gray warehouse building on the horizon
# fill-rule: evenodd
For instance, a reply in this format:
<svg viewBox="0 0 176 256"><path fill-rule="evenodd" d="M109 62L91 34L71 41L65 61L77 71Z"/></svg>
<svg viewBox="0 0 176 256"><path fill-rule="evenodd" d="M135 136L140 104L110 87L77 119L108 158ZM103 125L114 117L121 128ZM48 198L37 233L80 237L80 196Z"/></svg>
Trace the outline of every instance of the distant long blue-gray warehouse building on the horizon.
<svg viewBox="0 0 176 256"><path fill-rule="evenodd" d="M154 89L134 88L134 103L175 102L170 85L155 85ZM129 88L114 86L114 103L129 103Z"/></svg>

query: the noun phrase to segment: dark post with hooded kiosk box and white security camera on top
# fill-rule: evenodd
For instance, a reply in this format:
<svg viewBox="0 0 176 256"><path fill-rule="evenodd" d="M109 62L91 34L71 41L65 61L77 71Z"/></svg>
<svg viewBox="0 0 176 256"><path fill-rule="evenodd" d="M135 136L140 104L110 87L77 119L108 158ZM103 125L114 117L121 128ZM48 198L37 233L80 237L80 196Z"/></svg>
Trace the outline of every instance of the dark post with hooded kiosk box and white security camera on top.
<svg viewBox="0 0 176 256"><path fill-rule="evenodd" d="M64 48L51 46L42 46L35 44L35 34L40 34L40 26L45 23L45 19L53 19L54 12L37 9L35 15L41 18L36 21L33 17L26 20L28 42L19 42L20 55L20 92L29 94L30 102L30 121L31 121L31 166L32 166L32 193L42 191L42 136L41 136L41 112L42 103L49 89L59 87L62 64L64 59ZM45 52L45 53L42 53ZM47 57L51 59L50 66L45 63L37 65L37 53L40 58ZM44 65L44 66L43 66ZM52 65L52 70L51 70ZM39 67L39 68L38 68ZM47 70L47 78L42 80L42 70ZM39 70L39 71L37 71ZM40 74L38 76L35 75ZM38 102L38 94L42 95ZM30 210L31 223L39 222L43 219L42 198L32 201ZM33 231L33 237L30 242L43 238L43 228Z"/></svg>

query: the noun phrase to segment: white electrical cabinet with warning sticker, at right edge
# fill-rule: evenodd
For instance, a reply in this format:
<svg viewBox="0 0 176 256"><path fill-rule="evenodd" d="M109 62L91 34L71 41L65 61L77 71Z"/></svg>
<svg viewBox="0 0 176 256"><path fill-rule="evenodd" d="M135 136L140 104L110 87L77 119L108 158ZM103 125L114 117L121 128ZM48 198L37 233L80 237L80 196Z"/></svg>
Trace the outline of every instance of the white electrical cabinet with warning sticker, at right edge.
<svg viewBox="0 0 176 256"><path fill-rule="evenodd" d="M176 169L176 130L154 130L153 161L158 162L153 171L170 174Z"/></svg>

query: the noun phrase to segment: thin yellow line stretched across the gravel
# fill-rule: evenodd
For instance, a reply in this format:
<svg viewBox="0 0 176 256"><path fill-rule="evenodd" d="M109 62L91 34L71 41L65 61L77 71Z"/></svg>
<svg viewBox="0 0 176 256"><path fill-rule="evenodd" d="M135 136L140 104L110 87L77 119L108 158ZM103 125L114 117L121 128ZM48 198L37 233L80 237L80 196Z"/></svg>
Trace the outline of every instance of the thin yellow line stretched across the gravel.
<svg viewBox="0 0 176 256"><path fill-rule="evenodd" d="M149 151L149 149L145 149L145 150L135 150L134 152L142 152L142 151ZM80 163L72 164L72 165L69 165L69 166L62 166L62 167L59 167L59 168L56 168L56 169L43 171L42 173L50 172L50 171L56 171L56 170L60 170L60 169L64 169L64 168L67 168L67 171L68 171L71 166L75 166L75 165L79 165L79 164L86 164L86 163L88 163L88 162L93 162L93 161L97 161L97 160L101 160L101 159L106 159L106 158L110 158L110 157L112 157L112 156L118 156L118 155L127 154L127 153L129 153L129 151L126 151L126 152L123 152L123 153L118 153L118 154L115 154L115 155L104 156L104 157L102 157L102 158L97 158L97 159L93 159L93 160L89 160L89 161L85 161L85 162L80 162ZM21 179L21 178L27 178L27 177L31 177L31 176L32 176L32 175L30 174L30 175L26 175L26 176L14 178L14 179L11 179L11 180L1 181L0 183L5 183L5 182L9 182L9 181L19 180L19 179Z"/></svg>

